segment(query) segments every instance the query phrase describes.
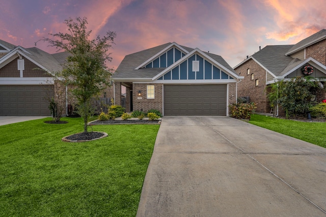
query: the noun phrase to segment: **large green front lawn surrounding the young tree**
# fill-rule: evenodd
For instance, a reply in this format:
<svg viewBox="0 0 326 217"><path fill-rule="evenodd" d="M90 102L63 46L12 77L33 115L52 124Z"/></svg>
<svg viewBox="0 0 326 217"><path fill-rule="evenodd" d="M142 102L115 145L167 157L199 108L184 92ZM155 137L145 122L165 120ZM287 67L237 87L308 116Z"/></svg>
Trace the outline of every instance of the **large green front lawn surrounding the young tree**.
<svg viewBox="0 0 326 217"><path fill-rule="evenodd" d="M107 137L63 142L81 118L0 126L0 216L135 216L159 125L99 125Z"/></svg>

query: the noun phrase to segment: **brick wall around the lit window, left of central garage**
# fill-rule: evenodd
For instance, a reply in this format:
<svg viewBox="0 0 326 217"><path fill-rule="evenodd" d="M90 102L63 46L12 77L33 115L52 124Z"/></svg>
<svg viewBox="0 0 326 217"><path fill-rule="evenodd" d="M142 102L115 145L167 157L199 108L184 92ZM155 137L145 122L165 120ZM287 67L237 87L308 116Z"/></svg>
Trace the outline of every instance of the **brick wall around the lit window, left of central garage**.
<svg viewBox="0 0 326 217"><path fill-rule="evenodd" d="M147 85L154 85L154 97L155 99L147 99ZM138 95L139 90L141 90L141 96ZM157 109L162 113L163 111L163 85L162 84L139 84L133 83L132 87L133 93L133 111L143 110L147 112L149 109ZM138 99L142 97L142 99Z"/></svg>

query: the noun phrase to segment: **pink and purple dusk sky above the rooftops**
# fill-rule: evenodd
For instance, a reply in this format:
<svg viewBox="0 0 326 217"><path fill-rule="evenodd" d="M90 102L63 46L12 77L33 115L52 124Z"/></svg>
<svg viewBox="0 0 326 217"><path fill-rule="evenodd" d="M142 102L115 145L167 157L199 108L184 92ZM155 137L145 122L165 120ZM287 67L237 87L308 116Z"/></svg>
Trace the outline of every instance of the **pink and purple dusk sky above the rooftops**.
<svg viewBox="0 0 326 217"><path fill-rule="evenodd" d="M0 39L35 47L49 33L66 33L65 19L86 17L93 38L117 33L110 68L168 42L221 55L234 67L259 46L295 44L326 28L325 9L323 0L0 0ZM36 47L56 52L47 45Z"/></svg>

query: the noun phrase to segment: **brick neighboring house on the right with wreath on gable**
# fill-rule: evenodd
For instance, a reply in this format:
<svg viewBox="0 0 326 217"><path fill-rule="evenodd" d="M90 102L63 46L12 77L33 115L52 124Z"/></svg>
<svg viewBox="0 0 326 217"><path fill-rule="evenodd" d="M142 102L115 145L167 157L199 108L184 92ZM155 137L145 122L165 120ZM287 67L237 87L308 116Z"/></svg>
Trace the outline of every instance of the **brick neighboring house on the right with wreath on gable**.
<svg viewBox="0 0 326 217"><path fill-rule="evenodd" d="M237 95L249 97L250 102L257 103L257 112L281 115L284 111L278 107L270 108L268 84L304 76L302 69L307 65L314 70L310 76L317 80L326 77L326 29L295 45L270 45L247 57L234 67L239 75L244 76L238 83ZM325 91L316 93L317 102L325 98Z"/></svg>

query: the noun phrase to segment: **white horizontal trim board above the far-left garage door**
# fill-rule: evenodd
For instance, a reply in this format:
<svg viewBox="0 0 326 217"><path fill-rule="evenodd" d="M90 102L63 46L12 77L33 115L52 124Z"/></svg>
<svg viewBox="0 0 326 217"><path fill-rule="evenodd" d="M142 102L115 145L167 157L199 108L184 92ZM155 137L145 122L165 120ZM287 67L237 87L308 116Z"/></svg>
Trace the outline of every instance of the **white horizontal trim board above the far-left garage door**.
<svg viewBox="0 0 326 217"><path fill-rule="evenodd" d="M23 85L23 84L53 84L54 79L50 77L28 77L28 78L1 78L0 85Z"/></svg>

